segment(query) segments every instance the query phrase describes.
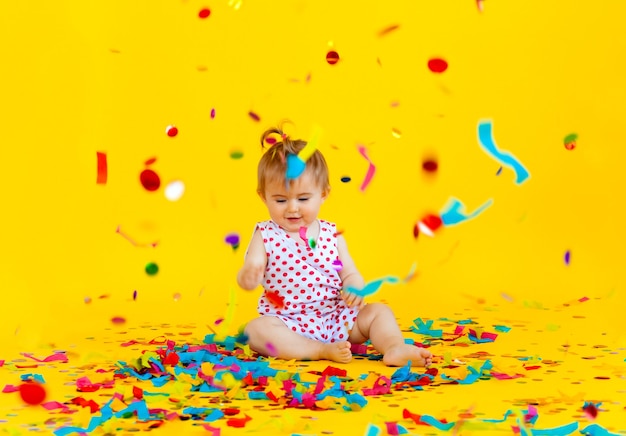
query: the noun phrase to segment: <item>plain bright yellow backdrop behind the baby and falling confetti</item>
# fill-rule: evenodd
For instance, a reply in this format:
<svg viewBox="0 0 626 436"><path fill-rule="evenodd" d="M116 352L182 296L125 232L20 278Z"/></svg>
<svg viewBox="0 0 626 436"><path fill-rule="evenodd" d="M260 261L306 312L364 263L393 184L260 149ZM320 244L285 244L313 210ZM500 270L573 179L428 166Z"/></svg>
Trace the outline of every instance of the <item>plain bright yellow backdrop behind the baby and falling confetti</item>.
<svg viewBox="0 0 626 436"><path fill-rule="evenodd" d="M623 344L626 7L483 5L3 2L5 351L69 344L114 316L210 324L231 290L231 330L254 316L258 293L239 290L235 276L254 224L267 218L255 194L259 137L283 119L292 137L321 129L333 185L322 218L345 231L366 280L405 276L417 262L415 280L373 298L405 327L459 308L521 312L587 296L603 302L585 309L592 328ZM203 7L212 12L204 20ZM379 36L391 25L399 28ZM330 49L336 65L326 62ZM433 57L448 70L430 72ZM529 170L525 183L506 167L496 175L500 164L478 145L482 119ZM364 192L358 144L377 168ZM107 153L106 185L96 184L97 151ZM421 169L427 154L439 163L434 177ZM152 157L157 192L139 183ZM173 180L186 186L175 202L163 195ZM416 221L451 197L468 212L493 205L415 240ZM157 247L134 247L118 226ZM224 242L230 232L242 238L236 251ZM149 262L156 276L146 275Z"/></svg>

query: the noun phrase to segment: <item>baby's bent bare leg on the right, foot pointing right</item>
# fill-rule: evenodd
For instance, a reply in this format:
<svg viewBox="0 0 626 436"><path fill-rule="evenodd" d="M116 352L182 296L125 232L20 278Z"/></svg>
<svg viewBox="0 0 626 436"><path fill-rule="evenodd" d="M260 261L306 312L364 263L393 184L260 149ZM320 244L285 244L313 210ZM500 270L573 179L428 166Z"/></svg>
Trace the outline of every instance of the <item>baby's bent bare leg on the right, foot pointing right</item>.
<svg viewBox="0 0 626 436"><path fill-rule="evenodd" d="M393 312L384 304L368 304L356 317L348 340L359 344L367 339L383 355L383 362L387 366L404 366L409 361L411 366L428 366L432 363L430 351L404 342Z"/></svg>

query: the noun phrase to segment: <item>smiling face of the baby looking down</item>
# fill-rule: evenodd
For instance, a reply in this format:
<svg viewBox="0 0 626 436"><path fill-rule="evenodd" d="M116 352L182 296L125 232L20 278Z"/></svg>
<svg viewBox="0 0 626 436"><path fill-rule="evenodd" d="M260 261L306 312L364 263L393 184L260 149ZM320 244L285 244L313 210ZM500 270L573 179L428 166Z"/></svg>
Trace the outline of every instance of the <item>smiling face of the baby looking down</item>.
<svg viewBox="0 0 626 436"><path fill-rule="evenodd" d="M291 186L280 180L267 183L262 198L272 221L289 233L298 233L300 227L309 227L317 219L326 195L305 171Z"/></svg>

